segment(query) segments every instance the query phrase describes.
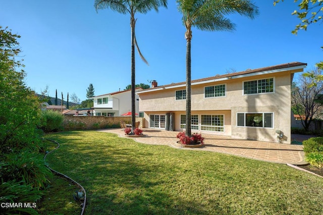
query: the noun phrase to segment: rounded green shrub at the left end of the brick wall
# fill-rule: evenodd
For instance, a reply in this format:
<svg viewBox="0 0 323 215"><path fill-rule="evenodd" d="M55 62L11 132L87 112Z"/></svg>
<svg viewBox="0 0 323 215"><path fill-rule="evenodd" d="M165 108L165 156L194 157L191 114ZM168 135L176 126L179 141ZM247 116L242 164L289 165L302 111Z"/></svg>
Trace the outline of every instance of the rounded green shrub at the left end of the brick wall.
<svg viewBox="0 0 323 215"><path fill-rule="evenodd" d="M64 116L57 111L43 111L41 114L41 129L44 132L56 132L63 130Z"/></svg>

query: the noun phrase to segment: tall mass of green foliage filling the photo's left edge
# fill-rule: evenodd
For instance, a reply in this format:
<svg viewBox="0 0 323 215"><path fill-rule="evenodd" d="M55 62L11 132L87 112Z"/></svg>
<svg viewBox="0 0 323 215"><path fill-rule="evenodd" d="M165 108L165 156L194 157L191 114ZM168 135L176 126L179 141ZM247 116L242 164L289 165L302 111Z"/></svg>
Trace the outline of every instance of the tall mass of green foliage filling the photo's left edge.
<svg viewBox="0 0 323 215"><path fill-rule="evenodd" d="M0 26L0 203L35 203L50 172L37 153L42 147L40 101L29 87L20 47L8 28ZM0 207L1 214L33 213L24 207Z"/></svg>

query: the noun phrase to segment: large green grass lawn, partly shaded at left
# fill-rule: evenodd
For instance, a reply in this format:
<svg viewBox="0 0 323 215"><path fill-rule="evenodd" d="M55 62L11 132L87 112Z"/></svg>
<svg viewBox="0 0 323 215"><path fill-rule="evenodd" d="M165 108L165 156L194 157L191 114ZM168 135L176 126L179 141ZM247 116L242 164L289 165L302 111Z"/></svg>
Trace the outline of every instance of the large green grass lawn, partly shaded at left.
<svg viewBox="0 0 323 215"><path fill-rule="evenodd" d="M86 214L323 214L323 179L286 165L96 131L46 138L61 144L46 162L85 188Z"/></svg>

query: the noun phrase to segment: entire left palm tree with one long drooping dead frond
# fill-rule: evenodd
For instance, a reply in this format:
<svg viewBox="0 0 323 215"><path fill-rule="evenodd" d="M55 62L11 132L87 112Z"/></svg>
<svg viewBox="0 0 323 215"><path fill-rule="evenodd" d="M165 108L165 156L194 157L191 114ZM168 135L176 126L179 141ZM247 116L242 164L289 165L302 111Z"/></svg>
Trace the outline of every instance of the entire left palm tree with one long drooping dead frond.
<svg viewBox="0 0 323 215"><path fill-rule="evenodd" d="M135 19L136 13L146 14L154 9L158 12L158 7L167 8L167 0L94 0L95 10L111 9L121 14L130 14L130 27L131 27L131 117L132 117L132 133L136 126L136 97L135 97L135 46L137 47L139 56L148 64L146 59L142 56L136 41Z"/></svg>

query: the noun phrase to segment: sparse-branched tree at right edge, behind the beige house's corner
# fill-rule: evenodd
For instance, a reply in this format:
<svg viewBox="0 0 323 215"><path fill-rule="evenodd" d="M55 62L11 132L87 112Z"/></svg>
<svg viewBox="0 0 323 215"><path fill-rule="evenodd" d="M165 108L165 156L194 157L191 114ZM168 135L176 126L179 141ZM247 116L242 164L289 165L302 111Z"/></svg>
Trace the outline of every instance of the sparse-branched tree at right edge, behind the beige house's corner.
<svg viewBox="0 0 323 215"><path fill-rule="evenodd" d="M321 70L315 69L310 73L320 75ZM297 84L292 84L292 106L296 109L298 115L304 116L304 119L301 117L301 123L306 131L308 131L312 120L320 114L321 104L319 99L321 98L320 94L323 93L323 83L319 82L312 85L312 81L311 77L302 75Z"/></svg>

